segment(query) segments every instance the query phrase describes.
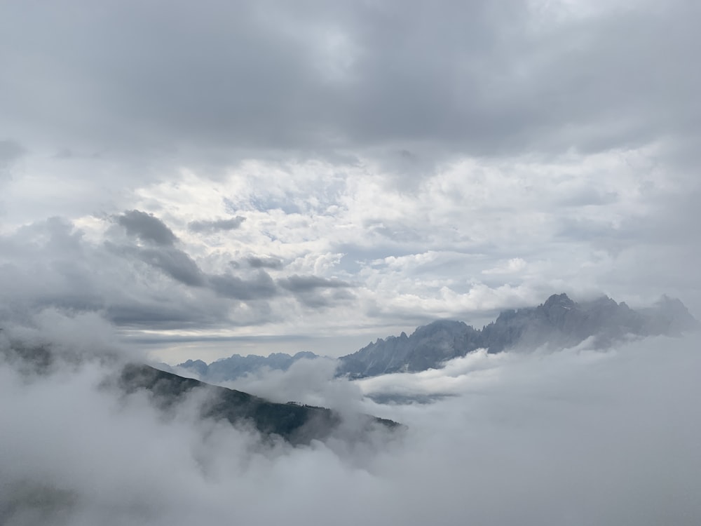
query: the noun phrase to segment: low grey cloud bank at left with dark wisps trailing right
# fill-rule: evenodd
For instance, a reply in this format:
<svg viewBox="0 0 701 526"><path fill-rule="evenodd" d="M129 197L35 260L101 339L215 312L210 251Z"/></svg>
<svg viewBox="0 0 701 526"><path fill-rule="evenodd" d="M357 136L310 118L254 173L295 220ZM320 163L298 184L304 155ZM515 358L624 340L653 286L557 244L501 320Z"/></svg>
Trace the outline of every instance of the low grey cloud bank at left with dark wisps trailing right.
<svg viewBox="0 0 701 526"><path fill-rule="evenodd" d="M145 216L132 228L133 235L161 239L158 234L168 227ZM346 284L339 280L292 276L295 286L287 290L263 269L207 273L180 248L117 239L88 241L72 222L57 217L0 235L0 315L24 316L52 307L102 312L125 328L205 329L280 321L294 305L288 292L308 307L327 309L349 300L341 288ZM273 297L280 298L275 305Z"/></svg>

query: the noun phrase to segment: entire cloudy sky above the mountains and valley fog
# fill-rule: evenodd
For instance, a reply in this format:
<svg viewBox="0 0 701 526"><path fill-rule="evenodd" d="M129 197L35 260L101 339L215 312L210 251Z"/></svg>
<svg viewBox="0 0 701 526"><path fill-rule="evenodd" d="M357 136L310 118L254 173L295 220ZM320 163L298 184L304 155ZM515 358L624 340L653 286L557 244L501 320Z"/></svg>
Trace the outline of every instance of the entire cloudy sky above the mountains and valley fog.
<svg viewBox="0 0 701 526"><path fill-rule="evenodd" d="M4 1L0 320L178 363L559 292L699 316L700 11Z"/></svg>

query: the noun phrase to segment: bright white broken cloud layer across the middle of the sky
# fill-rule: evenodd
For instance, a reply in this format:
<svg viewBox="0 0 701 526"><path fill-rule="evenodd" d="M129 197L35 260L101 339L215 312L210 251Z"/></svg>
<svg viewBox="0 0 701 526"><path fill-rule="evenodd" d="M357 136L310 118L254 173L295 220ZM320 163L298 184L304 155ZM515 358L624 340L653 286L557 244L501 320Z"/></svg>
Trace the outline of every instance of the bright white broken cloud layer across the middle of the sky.
<svg viewBox="0 0 701 526"><path fill-rule="evenodd" d="M132 189L132 210L153 214L179 239L177 254L167 261L166 255L130 261L134 249L123 247L132 240L110 215L80 215L74 221L80 230L52 220L51 238L39 235L46 227L38 225L6 235L13 247L4 253L10 264L6 275L14 277L4 294L14 290L28 305L46 302L42 297L48 296L53 298L49 304L57 305L56 298L67 297L73 287L72 295L90 298L82 300L83 308L118 309L115 319L123 320L130 303L139 305L136 312L147 306L155 312L165 300L166 316L181 306L177 316L184 318L177 319L190 318L180 332L216 335L226 330L230 336L386 336L433 318L472 323L477 316L481 323L499 309L538 304L563 291L576 296L606 292L634 303L667 292L681 295L694 310L693 279L665 271L689 255L662 256L646 268L634 264L640 258L650 261L660 246L667 245L663 250L669 253L697 250L693 239L683 242L681 227L689 220L683 215L693 217L695 208L675 210L672 204L684 202L690 181L651 168L656 156L651 148L594 156L570 153L547 163L465 159L427 175L413 190L386 184L389 175L367 167L321 161L247 161L216 180L182 170L176 179ZM226 217L236 219L236 229L190 228ZM64 224L63 234L58 224ZM655 227L644 230L644 224ZM669 245L674 239L669 232L679 234L674 245ZM112 244L103 245L105 240ZM251 257L279 262L264 269L271 283L315 276L344 281L352 289L343 294L318 291L299 301L280 297L240 304L188 286L205 283L205 274L257 283L260 269L250 265ZM41 287L25 275L27 258L35 267L46 267ZM168 268L159 270L149 262L168 263ZM178 262L189 262L188 269ZM81 271L69 272L71 265ZM185 276L184 271L191 276L184 283L169 278ZM72 285L79 282L83 284ZM215 310L217 315L207 319ZM303 349L291 340L287 350ZM259 352L267 353L262 342Z"/></svg>

